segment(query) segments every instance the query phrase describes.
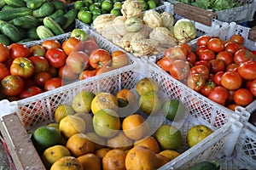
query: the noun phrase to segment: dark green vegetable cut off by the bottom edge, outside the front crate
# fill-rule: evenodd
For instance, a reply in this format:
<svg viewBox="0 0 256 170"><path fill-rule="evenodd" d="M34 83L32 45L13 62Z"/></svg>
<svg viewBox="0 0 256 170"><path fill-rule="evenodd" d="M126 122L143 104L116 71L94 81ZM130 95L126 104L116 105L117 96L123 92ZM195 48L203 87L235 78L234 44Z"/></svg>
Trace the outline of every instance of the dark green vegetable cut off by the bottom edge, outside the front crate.
<svg viewBox="0 0 256 170"><path fill-rule="evenodd" d="M220 165L216 161L201 161L195 163L189 170L219 170Z"/></svg>

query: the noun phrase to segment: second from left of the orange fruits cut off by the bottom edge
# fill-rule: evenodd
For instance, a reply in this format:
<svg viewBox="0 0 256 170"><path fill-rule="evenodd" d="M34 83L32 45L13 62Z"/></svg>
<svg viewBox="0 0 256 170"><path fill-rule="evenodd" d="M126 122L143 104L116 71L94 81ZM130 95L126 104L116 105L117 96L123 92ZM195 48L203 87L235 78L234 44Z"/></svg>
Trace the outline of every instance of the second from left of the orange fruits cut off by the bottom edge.
<svg viewBox="0 0 256 170"><path fill-rule="evenodd" d="M83 156L79 156L77 158L84 170L101 170L102 169L102 162L98 156L93 153L84 154Z"/></svg>

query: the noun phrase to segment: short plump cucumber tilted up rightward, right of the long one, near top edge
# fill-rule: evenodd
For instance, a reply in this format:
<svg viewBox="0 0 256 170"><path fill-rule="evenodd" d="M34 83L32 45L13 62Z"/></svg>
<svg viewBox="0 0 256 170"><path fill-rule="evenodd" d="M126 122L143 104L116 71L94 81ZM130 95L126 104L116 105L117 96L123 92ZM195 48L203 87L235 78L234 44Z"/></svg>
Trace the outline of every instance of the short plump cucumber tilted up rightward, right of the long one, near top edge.
<svg viewBox="0 0 256 170"><path fill-rule="evenodd" d="M40 8L37 8L32 11L32 15L36 18L42 18L45 16L48 16L50 14L53 14L55 11L54 6L51 3L43 3L43 5Z"/></svg>

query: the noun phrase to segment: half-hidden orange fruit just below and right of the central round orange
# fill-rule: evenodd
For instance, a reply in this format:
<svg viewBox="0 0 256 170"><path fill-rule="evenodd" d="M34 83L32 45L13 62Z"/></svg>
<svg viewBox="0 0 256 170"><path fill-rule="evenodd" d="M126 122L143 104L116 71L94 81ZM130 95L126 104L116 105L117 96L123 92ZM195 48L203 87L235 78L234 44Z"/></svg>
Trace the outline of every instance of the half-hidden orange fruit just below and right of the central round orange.
<svg viewBox="0 0 256 170"><path fill-rule="evenodd" d="M157 143L156 139L154 139L153 136L148 136L146 138L135 141L134 147L135 146L145 146L148 149L153 150L154 153L160 152L160 146Z"/></svg>

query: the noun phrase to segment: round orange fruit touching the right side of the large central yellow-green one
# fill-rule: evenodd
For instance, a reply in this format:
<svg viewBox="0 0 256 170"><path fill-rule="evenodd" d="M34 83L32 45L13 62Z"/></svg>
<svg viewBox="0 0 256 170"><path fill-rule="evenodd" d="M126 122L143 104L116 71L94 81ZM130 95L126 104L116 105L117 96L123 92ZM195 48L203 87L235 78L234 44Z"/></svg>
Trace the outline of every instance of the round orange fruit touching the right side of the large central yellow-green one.
<svg viewBox="0 0 256 170"><path fill-rule="evenodd" d="M143 116L138 114L126 116L122 122L122 127L125 135L134 140L142 139L149 130L148 122L145 122Z"/></svg>

